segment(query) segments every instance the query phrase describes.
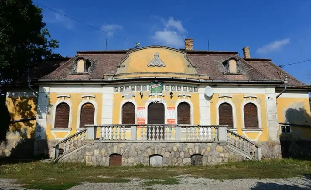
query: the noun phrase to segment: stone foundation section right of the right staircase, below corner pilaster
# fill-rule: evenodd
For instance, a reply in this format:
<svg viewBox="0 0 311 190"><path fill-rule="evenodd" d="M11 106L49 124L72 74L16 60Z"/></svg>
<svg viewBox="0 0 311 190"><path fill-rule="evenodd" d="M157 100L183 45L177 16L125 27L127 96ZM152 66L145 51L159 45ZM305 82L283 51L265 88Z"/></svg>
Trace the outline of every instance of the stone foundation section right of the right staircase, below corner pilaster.
<svg viewBox="0 0 311 190"><path fill-rule="evenodd" d="M265 158L281 158L280 141L255 141L261 147L262 159Z"/></svg>

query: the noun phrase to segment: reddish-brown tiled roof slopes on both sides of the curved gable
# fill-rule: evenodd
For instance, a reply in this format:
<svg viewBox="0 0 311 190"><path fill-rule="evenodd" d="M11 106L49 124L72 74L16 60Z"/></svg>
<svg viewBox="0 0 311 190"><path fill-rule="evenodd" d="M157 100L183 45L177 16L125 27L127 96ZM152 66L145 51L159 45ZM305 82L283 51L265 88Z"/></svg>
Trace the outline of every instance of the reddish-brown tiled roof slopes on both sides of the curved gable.
<svg viewBox="0 0 311 190"><path fill-rule="evenodd" d="M103 79L104 75L114 75L117 66L126 57L126 50L117 51L80 51L66 63L40 79ZM237 55L238 52L216 51L186 51L189 61L196 66L198 75L207 75L211 80L281 80L279 67L267 59L245 59ZM87 74L73 74L75 59L79 56L91 62L91 69ZM240 74L225 74L223 62L230 57L239 59ZM293 76L282 72L283 80L287 75L290 86L308 86Z"/></svg>

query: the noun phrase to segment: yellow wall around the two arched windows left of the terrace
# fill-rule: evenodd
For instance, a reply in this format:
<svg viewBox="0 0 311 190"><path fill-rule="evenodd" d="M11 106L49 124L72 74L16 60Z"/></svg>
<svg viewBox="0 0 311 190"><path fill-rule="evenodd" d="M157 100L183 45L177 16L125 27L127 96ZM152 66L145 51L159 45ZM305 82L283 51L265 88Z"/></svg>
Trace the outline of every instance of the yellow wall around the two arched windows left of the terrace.
<svg viewBox="0 0 311 190"><path fill-rule="evenodd" d="M86 95L88 93L62 93L64 95L70 95L70 98L66 97L65 100L66 101L70 101L71 103L71 115L69 115L69 117L71 117L71 131L70 131L70 135L74 134L77 132L77 120L79 117L79 104L83 101L83 100L87 100L88 97L84 97L82 98L82 95ZM97 104L97 113L96 113L96 123L100 124L101 123L101 114L102 114L102 102L103 102L103 94L102 93L92 93L95 95L95 98L90 97L90 100L94 100ZM57 97L57 95L59 95L59 93L50 93L49 94L49 109L48 109L48 115L47 115L47 123L46 123L46 138L47 139L55 139L52 132L51 132L51 128L53 125L53 115L54 113L54 106L56 106L56 102L58 100L62 100L62 97ZM53 133L57 136L57 138L63 138L63 133L59 133L59 132L55 132L53 131Z"/></svg>

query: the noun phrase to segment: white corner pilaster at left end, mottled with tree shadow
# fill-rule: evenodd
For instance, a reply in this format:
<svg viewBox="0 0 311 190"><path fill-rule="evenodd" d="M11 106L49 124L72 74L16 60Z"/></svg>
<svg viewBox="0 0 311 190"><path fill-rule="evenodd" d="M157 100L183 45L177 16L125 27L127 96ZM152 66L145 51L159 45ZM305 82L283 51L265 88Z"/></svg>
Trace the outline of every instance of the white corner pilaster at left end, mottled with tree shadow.
<svg viewBox="0 0 311 190"><path fill-rule="evenodd" d="M49 87L39 87L35 138L45 139L46 117L49 109Z"/></svg>

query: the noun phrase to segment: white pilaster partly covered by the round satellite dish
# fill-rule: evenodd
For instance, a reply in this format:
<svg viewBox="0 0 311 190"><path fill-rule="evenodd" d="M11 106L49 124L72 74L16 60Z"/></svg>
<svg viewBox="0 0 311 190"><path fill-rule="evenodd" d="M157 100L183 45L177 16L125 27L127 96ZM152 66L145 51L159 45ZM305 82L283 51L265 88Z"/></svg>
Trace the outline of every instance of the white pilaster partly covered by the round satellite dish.
<svg viewBox="0 0 311 190"><path fill-rule="evenodd" d="M204 89L206 86L200 86L198 88L199 93L199 108L200 108L200 124L211 124L211 108L210 98L205 95Z"/></svg>

